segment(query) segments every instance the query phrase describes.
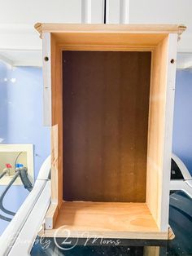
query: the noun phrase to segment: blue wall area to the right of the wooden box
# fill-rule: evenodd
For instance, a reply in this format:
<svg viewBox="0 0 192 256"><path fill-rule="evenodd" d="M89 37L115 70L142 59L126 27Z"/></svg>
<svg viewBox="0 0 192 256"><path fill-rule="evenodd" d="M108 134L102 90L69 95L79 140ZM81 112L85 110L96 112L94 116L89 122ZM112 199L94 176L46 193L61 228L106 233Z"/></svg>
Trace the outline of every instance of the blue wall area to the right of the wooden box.
<svg viewBox="0 0 192 256"><path fill-rule="evenodd" d="M192 70L177 70L172 152L192 174Z"/></svg>

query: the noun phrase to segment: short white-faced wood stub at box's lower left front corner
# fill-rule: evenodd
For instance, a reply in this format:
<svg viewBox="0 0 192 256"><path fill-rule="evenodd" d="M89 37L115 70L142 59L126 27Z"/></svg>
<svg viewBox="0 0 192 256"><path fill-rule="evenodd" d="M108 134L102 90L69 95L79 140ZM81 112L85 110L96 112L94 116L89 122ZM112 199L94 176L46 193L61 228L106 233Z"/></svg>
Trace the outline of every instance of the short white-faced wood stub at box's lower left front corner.
<svg viewBox="0 0 192 256"><path fill-rule="evenodd" d="M55 227L58 214L59 214L59 206L56 203L51 203L45 218L46 229L53 229Z"/></svg>

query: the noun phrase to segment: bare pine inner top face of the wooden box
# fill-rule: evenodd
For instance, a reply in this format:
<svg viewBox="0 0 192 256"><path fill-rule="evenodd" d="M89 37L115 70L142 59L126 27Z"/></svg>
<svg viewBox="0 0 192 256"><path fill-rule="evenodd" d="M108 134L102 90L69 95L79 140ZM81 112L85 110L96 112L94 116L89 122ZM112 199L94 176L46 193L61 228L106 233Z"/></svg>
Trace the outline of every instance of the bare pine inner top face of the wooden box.
<svg viewBox="0 0 192 256"><path fill-rule="evenodd" d="M55 39L63 46L63 50L79 51L80 48L92 51L129 51L129 49L140 49L145 51L154 49L166 34L145 33L54 33Z"/></svg>

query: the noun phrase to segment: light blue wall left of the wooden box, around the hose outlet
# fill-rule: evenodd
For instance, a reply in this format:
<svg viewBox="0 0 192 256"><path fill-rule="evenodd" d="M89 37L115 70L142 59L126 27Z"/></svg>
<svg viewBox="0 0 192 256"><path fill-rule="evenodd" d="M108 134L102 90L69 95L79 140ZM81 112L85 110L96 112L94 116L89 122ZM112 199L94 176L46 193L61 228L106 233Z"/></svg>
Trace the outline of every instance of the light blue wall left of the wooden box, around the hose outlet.
<svg viewBox="0 0 192 256"><path fill-rule="evenodd" d="M41 68L11 68L0 62L0 138L2 143L33 143L36 178L50 154L50 128L42 124L42 88ZM12 186L5 206L18 210L27 195L22 186ZM7 224L0 220L0 234Z"/></svg>

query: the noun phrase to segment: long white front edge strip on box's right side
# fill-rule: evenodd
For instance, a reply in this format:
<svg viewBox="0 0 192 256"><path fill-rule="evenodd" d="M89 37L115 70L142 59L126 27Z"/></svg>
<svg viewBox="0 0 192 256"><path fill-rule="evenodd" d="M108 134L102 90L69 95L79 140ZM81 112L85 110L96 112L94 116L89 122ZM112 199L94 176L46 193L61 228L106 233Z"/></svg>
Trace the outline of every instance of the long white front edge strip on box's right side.
<svg viewBox="0 0 192 256"><path fill-rule="evenodd" d="M175 97L175 79L177 63L177 34L168 36L168 59L167 59L167 77L166 77L166 106L165 106L165 124L164 124L164 156L163 156L163 174L162 174L162 194L159 226L161 231L168 229L168 210L169 210L169 191L170 191L170 172L172 159L172 126L173 110Z"/></svg>

